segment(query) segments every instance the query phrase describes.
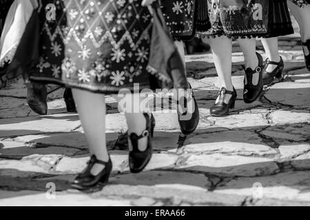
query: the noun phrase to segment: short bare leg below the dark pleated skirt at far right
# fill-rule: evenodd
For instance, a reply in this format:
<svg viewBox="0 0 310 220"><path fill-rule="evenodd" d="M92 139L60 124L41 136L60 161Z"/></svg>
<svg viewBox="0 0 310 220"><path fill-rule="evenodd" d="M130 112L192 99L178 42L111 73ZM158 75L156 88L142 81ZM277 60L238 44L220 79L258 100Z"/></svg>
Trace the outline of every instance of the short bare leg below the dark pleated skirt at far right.
<svg viewBox="0 0 310 220"><path fill-rule="evenodd" d="M269 61L273 61L276 63L280 62L281 58L278 49L278 38L273 37L270 39L262 39L261 41L262 45L265 48L265 52L267 54L267 58L269 58ZM276 69L276 67L277 65L269 64L266 71L271 73L274 69Z"/></svg>

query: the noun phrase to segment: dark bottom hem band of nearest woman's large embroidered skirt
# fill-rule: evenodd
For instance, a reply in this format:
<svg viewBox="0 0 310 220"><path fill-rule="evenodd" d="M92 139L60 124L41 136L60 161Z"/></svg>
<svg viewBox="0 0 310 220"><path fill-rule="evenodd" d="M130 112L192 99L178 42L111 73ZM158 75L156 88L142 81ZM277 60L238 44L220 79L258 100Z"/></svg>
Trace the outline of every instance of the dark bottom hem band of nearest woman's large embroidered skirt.
<svg viewBox="0 0 310 220"><path fill-rule="evenodd" d="M85 91L91 91L94 94L118 94L121 89L129 89L131 92L136 91L134 87L107 87L107 86L98 86L98 85L86 85L83 83L74 83L74 82L63 82L61 79L48 78L44 76L30 76L31 81L43 82L43 83L52 83L57 85L63 85L65 87L73 88L73 89L81 89ZM149 89L149 85L141 85L139 84L139 91L142 89Z"/></svg>

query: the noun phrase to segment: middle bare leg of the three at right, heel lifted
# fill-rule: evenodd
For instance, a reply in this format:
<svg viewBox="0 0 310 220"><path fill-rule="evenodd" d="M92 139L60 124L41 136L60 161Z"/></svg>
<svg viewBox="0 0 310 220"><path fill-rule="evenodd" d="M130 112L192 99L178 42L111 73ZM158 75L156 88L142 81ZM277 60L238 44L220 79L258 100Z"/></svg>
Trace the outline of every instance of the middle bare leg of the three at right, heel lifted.
<svg viewBox="0 0 310 220"><path fill-rule="evenodd" d="M245 56L245 68L256 69L258 67L256 39L238 39L238 42ZM259 76L259 73L253 74L253 85L258 85Z"/></svg>

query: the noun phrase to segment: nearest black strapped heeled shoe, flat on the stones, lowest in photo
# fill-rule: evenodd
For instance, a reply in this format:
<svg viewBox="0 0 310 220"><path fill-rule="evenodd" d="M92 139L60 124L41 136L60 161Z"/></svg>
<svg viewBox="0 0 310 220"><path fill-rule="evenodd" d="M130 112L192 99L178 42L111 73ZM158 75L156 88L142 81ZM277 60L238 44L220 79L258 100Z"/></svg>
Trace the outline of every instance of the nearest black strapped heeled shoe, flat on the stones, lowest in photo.
<svg viewBox="0 0 310 220"><path fill-rule="evenodd" d="M96 176L92 175L91 173L94 164L102 164L105 166L105 168L101 170L99 175ZM97 184L105 186L107 184L107 181L109 180L111 171L112 171L112 161L110 157L108 162L103 162L97 159L95 155L92 155L83 173L81 173L76 177L76 179L74 179L71 186L72 188L76 188L78 190L87 190L96 186Z"/></svg>

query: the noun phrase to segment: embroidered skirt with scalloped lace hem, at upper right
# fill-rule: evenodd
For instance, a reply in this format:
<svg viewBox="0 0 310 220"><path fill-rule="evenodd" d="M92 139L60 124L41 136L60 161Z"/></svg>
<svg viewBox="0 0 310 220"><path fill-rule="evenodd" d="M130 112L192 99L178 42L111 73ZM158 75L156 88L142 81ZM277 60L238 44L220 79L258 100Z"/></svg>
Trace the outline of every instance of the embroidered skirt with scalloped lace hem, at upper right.
<svg viewBox="0 0 310 220"><path fill-rule="evenodd" d="M268 32L267 0L235 0L233 3L220 0L206 0L209 30L199 32L203 36L227 36L244 38L264 36ZM203 4L203 3L200 3ZM198 14L203 14L199 12ZM205 21L206 23L206 21ZM201 29L201 28L200 28Z"/></svg>

